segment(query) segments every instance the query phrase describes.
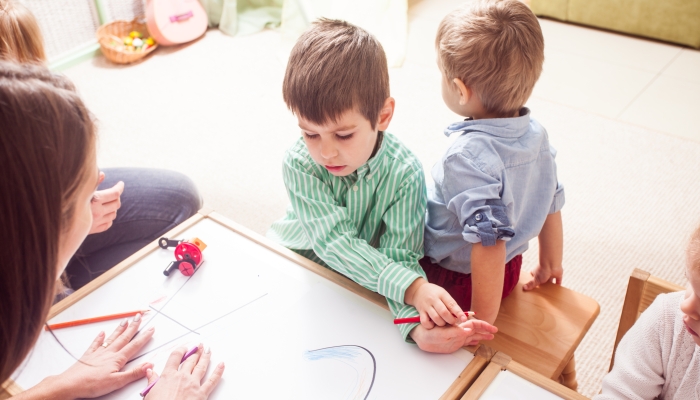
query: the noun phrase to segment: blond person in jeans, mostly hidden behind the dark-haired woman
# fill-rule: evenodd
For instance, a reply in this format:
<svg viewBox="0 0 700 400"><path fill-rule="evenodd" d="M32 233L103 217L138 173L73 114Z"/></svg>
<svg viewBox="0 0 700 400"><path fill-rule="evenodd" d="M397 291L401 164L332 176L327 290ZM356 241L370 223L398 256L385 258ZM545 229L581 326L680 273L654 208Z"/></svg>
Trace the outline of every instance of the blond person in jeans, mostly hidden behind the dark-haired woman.
<svg viewBox="0 0 700 400"><path fill-rule="evenodd" d="M39 24L17 0L0 0L0 59L46 64ZM66 267L77 290L194 215L202 205L192 180L153 168L105 168L91 204L89 235Z"/></svg>

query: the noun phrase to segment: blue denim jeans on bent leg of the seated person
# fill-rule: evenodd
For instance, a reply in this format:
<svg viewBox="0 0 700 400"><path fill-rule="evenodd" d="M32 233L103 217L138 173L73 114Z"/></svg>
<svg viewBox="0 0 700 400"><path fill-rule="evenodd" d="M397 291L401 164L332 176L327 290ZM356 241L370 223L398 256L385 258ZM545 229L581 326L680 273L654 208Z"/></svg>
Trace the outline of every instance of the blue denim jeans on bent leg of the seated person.
<svg viewBox="0 0 700 400"><path fill-rule="evenodd" d="M113 225L88 235L68 263L66 273L73 289L161 237L194 215L202 200L192 180L178 172L146 168L105 168L98 190L124 182L121 208Z"/></svg>

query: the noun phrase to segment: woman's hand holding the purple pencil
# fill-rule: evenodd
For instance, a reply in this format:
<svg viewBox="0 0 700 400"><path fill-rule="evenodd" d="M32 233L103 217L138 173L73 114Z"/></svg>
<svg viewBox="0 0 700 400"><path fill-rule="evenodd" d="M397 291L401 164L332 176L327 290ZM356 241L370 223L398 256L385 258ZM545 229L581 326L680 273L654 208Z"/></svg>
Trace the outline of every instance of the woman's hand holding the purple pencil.
<svg viewBox="0 0 700 400"><path fill-rule="evenodd" d="M200 344L197 352L180 366L185 352L187 349L183 347L170 355L160 378L153 370L148 369L148 384L156 379L158 383L151 388L145 400L205 400L209 397L224 373L224 363L217 365L209 379L202 384L202 378L207 373L211 360L211 352L208 349L203 351Z"/></svg>

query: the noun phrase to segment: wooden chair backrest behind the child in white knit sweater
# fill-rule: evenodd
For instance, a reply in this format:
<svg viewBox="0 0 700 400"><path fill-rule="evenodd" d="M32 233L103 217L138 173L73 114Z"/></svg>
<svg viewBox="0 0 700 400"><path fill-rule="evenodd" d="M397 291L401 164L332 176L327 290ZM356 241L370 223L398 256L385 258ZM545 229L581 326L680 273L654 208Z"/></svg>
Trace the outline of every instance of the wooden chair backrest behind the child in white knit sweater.
<svg viewBox="0 0 700 400"><path fill-rule="evenodd" d="M610 360L610 369L613 367L615 351L617 350L617 345L620 343L620 340L625 336L625 333L627 333L632 325L634 325L637 318L639 318L644 310L654 302L656 296L661 293L678 292L684 289L683 286L651 276L646 271L637 268L634 269L632 275L630 275L629 284L627 285L625 303L622 305L620 325L617 328L615 347L613 347L613 356Z"/></svg>

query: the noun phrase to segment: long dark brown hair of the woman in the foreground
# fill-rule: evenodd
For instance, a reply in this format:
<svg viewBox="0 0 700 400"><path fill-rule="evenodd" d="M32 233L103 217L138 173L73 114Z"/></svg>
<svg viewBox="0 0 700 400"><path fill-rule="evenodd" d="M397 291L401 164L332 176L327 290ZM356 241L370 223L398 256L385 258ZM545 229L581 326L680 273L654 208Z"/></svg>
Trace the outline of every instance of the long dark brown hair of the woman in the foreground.
<svg viewBox="0 0 700 400"><path fill-rule="evenodd" d="M95 127L65 77L0 61L0 382L27 356L56 285L60 235L95 173Z"/></svg>

